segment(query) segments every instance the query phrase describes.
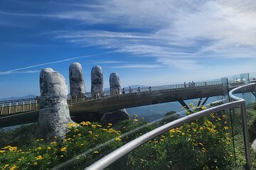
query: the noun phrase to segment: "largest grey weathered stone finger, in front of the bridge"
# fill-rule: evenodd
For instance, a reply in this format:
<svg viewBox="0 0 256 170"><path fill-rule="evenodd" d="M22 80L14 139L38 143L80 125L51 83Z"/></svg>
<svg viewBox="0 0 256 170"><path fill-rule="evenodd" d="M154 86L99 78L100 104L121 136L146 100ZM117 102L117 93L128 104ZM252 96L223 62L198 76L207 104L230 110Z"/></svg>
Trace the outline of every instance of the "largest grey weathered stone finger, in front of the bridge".
<svg viewBox="0 0 256 170"><path fill-rule="evenodd" d="M68 85L65 78L53 69L43 69L40 76L41 97L38 118L38 137L63 137L70 119Z"/></svg>

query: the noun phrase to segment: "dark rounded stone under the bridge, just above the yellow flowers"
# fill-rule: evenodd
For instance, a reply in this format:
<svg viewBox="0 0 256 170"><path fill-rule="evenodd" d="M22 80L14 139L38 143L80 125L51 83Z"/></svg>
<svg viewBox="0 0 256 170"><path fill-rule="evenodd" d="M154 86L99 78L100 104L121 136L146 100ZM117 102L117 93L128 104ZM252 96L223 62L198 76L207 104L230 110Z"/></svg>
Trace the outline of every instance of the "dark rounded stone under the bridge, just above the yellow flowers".
<svg viewBox="0 0 256 170"><path fill-rule="evenodd" d="M117 123L119 121L127 119L129 119L129 115L124 108L111 113L105 113L104 115L102 115L102 118L100 120L102 121L102 123Z"/></svg>

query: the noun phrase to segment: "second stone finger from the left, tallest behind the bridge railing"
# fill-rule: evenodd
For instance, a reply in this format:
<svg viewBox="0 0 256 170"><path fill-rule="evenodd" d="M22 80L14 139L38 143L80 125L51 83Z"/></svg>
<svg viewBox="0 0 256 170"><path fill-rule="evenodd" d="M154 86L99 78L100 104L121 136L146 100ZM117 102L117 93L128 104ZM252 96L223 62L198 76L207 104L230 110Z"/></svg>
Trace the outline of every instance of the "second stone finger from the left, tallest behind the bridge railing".
<svg viewBox="0 0 256 170"><path fill-rule="evenodd" d="M85 80L82 74L82 66L73 62L69 67L70 94L85 94Z"/></svg>

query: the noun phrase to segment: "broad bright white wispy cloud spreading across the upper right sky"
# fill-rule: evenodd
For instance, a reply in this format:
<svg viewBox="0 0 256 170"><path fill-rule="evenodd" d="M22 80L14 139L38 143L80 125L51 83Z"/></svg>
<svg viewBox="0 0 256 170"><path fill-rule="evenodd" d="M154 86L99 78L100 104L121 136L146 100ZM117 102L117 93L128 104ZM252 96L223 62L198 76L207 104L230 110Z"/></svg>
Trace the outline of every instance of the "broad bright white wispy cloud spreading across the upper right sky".
<svg viewBox="0 0 256 170"><path fill-rule="evenodd" d="M56 38L84 47L99 45L116 52L156 57L157 62L171 67L200 67L203 63L198 58L202 57L256 56L253 7L255 1L242 0L102 1L91 10L66 11L54 17L144 31L68 31Z"/></svg>

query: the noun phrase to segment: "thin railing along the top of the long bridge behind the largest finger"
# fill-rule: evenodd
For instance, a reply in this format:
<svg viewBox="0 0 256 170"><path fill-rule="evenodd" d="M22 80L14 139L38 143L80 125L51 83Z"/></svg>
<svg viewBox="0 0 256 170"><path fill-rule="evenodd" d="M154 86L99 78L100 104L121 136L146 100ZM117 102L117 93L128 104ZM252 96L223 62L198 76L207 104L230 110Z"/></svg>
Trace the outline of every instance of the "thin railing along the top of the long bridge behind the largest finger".
<svg viewBox="0 0 256 170"><path fill-rule="evenodd" d="M68 104L87 103L87 106L90 106L92 103L104 101L131 100L132 98L144 96L158 96L166 91L193 91L194 89L210 89L221 85L221 81L205 81L195 82L194 84L191 84L191 86L184 86L184 84L173 84L166 86L142 87L132 90L124 89L124 91L121 89L120 91L102 91L101 93L85 93L73 96L68 95ZM37 111L40 109L39 98L40 97L24 98L13 101L1 101L0 115Z"/></svg>

